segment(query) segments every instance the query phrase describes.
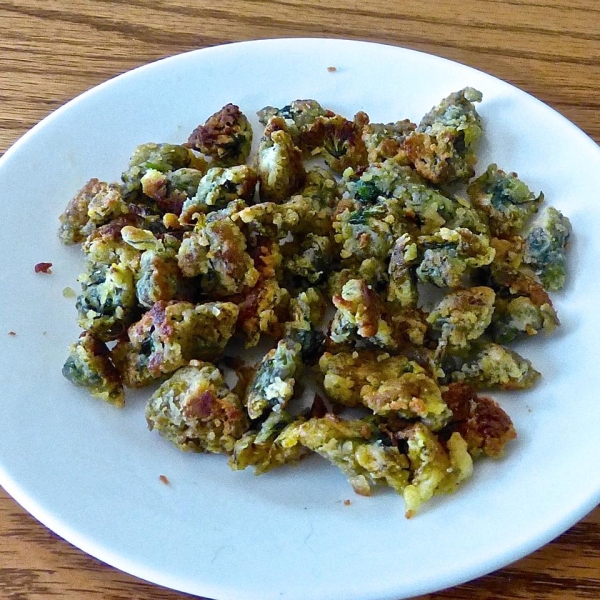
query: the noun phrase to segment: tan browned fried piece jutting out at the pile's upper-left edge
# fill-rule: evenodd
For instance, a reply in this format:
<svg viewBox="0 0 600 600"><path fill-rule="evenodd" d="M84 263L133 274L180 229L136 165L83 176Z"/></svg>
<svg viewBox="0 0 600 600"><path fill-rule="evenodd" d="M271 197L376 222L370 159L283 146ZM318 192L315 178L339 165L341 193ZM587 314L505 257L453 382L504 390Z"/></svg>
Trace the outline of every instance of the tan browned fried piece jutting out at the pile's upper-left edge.
<svg viewBox="0 0 600 600"><path fill-rule="evenodd" d="M90 179L60 215L58 237L63 244L83 242L96 227L128 212L118 185Z"/></svg>

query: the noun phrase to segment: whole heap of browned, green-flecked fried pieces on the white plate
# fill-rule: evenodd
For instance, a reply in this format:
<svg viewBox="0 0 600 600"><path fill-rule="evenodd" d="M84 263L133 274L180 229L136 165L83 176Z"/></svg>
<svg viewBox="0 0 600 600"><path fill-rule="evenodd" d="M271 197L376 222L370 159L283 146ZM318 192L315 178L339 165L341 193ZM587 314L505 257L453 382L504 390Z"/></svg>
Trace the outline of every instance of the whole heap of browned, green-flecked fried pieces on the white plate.
<svg viewBox="0 0 600 600"><path fill-rule="evenodd" d="M515 173L473 179L479 101L453 93L418 125L266 107L253 158L228 104L183 145L139 146L60 217L86 257L65 377L117 406L124 385L160 384L150 428L233 469L316 452L359 494L392 487L407 516L454 490L516 436L479 392L539 377L505 344L558 325L571 233ZM274 347L251 366L232 338ZM321 391L303 410L308 374Z"/></svg>

